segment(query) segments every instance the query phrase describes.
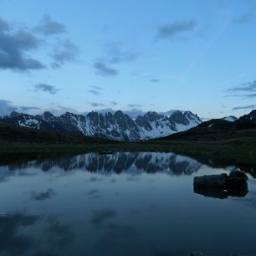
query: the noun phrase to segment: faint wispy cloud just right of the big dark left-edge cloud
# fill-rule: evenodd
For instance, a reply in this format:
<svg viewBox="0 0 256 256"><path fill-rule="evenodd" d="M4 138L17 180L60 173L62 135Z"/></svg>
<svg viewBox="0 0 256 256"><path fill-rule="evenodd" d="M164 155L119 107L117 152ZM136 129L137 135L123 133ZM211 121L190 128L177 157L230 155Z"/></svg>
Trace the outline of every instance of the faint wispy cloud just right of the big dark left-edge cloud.
<svg viewBox="0 0 256 256"><path fill-rule="evenodd" d="M54 53L51 54L51 57L54 60L52 67L58 69L66 62L74 61L78 54L79 48L70 40L66 39L60 41L59 44L54 47Z"/></svg>

